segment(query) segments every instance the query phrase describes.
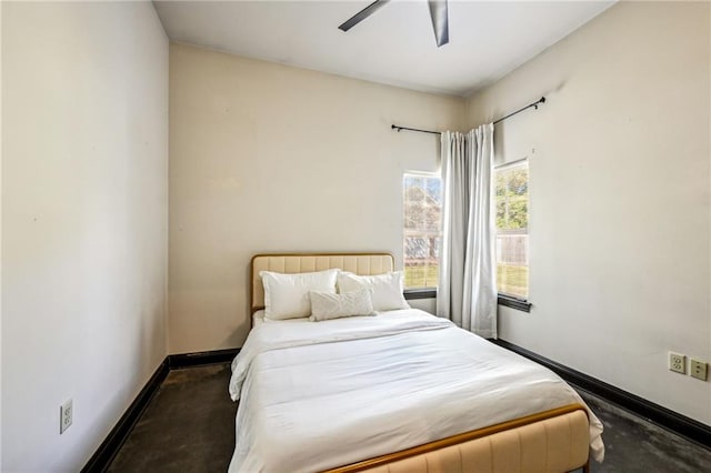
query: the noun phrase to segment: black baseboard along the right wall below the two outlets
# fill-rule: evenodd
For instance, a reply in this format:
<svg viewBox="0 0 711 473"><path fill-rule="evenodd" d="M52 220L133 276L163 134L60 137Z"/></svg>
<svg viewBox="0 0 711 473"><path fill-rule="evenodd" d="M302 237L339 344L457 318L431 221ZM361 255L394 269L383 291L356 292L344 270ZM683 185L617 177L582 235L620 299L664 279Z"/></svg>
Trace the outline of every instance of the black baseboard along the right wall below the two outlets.
<svg viewBox="0 0 711 473"><path fill-rule="evenodd" d="M585 391L590 391L607 401L610 401L634 414L647 419L658 425L661 425L670 431L678 433L679 435L689 439L694 443L699 443L702 446L708 447L711 445L711 427L678 412L671 411L659 404L654 404L643 397L635 394L623 391L612 384L608 384L604 381L600 381L585 373L568 368L563 364L557 363L544 356L525 350L521 346L509 343L504 340L491 340L491 342L510 350L514 353L523 355L534 362L542 364L549 370L557 373L563 380L582 388Z"/></svg>

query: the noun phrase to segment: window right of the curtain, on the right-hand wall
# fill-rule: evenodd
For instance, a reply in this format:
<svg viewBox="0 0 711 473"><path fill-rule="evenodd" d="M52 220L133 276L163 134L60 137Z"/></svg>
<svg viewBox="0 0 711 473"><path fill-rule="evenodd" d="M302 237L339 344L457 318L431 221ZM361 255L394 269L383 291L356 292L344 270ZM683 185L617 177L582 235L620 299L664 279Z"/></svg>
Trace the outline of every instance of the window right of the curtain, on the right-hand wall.
<svg viewBox="0 0 711 473"><path fill-rule="evenodd" d="M529 296L529 163L517 161L494 172L497 209L497 289Z"/></svg>

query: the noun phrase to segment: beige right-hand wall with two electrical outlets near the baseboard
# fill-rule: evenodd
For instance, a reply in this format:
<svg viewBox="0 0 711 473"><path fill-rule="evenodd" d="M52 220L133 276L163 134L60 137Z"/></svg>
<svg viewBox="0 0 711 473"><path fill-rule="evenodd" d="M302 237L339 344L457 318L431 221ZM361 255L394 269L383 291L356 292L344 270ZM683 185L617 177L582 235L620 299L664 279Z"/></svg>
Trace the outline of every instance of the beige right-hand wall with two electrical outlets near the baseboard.
<svg viewBox="0 0 711 473"><path fill-rule="evenodd" d="M623 2L472 97L497 159L530 159L530 314L499 333L711 424L711 6Z"/></svg>

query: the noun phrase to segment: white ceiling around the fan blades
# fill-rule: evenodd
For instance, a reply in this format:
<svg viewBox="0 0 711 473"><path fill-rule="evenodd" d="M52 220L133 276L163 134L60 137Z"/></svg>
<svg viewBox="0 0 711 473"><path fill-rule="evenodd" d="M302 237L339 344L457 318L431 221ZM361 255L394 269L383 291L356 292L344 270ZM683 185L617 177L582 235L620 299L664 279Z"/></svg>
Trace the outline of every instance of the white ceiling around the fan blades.
<svg viewBox="0 0 711 473"><path fill-rule="evenodd" d="M171 41L428 92L467 95L518 68L614 1L449 1L441 48L427 0L154 1Z"/></svg>

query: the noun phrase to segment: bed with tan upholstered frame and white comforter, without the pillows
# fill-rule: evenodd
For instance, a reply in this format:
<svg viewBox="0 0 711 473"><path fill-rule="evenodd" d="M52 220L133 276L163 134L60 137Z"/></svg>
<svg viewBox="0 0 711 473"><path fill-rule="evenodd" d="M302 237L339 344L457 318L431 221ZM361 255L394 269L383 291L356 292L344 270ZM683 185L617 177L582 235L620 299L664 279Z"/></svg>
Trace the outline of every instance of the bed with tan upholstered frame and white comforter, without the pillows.
<svg viewBox="0 0 711 473"><path fill-rule="evenodd" d="M264 316L260 273L336 269L395 274L384 253L252 259L253 329L230 380L240 402L230 472L567 472L589 471L590 454L602 461L602 424L574 390L447 320L407 306L318 322Z"/></svg>

